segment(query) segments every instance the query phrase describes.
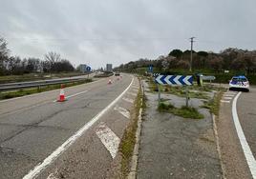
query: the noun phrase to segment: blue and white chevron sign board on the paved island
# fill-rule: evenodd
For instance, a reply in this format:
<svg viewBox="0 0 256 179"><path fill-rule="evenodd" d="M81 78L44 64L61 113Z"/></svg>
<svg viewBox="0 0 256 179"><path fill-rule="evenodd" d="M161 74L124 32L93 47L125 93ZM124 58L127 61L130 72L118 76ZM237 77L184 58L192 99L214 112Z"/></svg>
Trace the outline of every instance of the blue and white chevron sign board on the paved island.
<svg viewBox="0 0 256 179"><path fill-rule="evenodd" d="M193 76L188 75L159 75L155 79L160 85L186 86L193 85Z"/></svg>

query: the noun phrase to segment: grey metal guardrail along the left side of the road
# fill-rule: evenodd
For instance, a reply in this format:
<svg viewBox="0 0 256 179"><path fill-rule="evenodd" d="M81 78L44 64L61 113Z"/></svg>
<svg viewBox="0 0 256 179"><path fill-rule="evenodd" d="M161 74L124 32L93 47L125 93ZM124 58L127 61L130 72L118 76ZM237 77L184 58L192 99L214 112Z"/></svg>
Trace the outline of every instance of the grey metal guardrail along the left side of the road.
<svg viewBox="0 0 256 179"><path fill-rule="evenodd" d="M85 80L85 77L73 77L73 78L61 78L61 79L51 79L51 80L39 80L39 81L30 81L30 82L21 82L21 83L9 83L9 84L0 84L0 91L8 91L15 89L29 89L29 88L40 88L49 85L57 85L62 83L76 82Z"/></svg>

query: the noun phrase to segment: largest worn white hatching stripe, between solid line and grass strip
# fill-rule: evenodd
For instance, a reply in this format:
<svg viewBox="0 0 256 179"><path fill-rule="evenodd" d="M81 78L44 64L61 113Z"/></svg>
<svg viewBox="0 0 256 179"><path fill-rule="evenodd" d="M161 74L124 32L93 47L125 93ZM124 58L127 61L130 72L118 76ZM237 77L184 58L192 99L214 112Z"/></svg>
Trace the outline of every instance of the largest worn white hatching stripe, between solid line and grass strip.
<svg viewBox="0 0 256 179"><path fill-rule="evenodd" d="M115 158L120 143L120 139L117 137L116 133L114 133L106 125L102 124L96 129L96 135L105 148L110 152L112 158Z"/></svg>

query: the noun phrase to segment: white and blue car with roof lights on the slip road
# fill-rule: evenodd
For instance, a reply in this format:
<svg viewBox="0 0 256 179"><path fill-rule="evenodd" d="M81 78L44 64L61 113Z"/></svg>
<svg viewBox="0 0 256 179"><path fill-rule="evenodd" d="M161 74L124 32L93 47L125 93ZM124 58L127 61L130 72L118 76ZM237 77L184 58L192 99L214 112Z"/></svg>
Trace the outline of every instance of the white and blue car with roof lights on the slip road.
<svg viewBox="0 0 256 179"><path fill-rule="evenodd" d="M249 91L249 82L245 76L233 76L229 81L229 90Z"/></svg>

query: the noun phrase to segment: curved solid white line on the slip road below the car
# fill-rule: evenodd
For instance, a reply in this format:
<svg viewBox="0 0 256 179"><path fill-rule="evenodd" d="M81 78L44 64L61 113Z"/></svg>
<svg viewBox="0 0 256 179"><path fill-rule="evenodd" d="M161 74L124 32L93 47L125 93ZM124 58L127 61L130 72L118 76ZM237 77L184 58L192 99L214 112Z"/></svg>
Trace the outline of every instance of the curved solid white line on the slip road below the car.
<svg viewBox="0 0 256 179"><path fill-rule="evenodd" d="M252 178L256 179L256 161L255 158L249 148L249 145L246 141L244 131L241 127L241 124L239 122L238 114L237 114L237 99L241 95L241 92L239 92L236 97L234 98L233 104L232 104L232 115L233 115L233 120L234 124L237 130L238 138L240 141L240 144L242 146L242 149L245 153L245 159L247 161L247 165L250 169Z"/></svg>

